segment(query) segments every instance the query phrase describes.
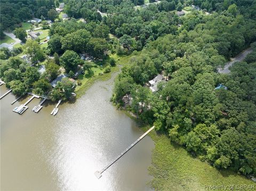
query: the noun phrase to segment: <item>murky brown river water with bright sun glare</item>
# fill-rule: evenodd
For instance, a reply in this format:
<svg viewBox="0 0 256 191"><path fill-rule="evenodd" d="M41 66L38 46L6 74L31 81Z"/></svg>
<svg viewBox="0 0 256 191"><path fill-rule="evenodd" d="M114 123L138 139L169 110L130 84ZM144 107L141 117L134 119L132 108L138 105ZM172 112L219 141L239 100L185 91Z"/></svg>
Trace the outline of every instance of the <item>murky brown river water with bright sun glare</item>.
<svg viewBox="0 0 256 191"><path fill-rule="evenodd" d="M46 101L39 113L12 111L30 96L11 105L1 99L1 190L150 190L148 166L154 142L146 136L97 179L100 170L143 132L111 105L114 76L96 82L75 103ZM1 95L7 92L1 86Z"/></svg>

